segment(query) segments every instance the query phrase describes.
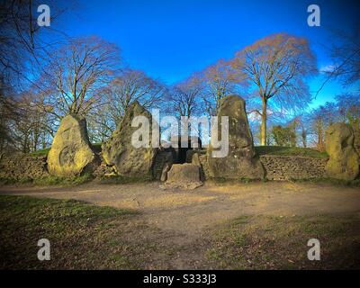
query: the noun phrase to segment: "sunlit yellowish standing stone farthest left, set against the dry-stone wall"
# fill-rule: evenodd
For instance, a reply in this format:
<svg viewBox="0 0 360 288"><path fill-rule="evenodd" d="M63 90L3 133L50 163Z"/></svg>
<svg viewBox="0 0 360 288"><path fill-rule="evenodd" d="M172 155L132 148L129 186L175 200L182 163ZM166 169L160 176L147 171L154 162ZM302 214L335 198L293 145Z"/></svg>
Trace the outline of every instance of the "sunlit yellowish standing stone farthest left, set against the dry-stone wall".
<svg viewBox="0 0 360 288"><path fill-rule="evenodd" d="M94 159L85 118L67 115L61 120L49 150L49 173L59 176L79 175L93 164Z"/></svg>

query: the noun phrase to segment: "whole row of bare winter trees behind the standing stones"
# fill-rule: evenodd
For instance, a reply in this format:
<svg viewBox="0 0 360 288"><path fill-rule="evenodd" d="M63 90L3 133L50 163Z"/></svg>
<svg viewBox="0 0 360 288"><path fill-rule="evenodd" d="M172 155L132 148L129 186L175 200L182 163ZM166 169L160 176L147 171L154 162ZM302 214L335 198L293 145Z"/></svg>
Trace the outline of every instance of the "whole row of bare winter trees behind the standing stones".
<svg viewBox="0 0 360 288"><path fill-rule="evenodd" d="M268 144L271 139L279 145L298 145L296 130L301 129L302 145L307 146L307 139L313 134L309 130L321 126L313 125L310 129L308 124L316 122L317 115L323 116L323 107L319 108L320 112L313 111L307 116L312 117L311 121L304 120L304 116L293 117L290 122L294 124L287 124L293 128L285 129L277 123L273 133L267 133L268 123L274 124L276 119L284 119L284 115L300 114L311 102L307 83L317 73L317 68L306 39L285 33L271 35L240 49L229 60L220 59L180 83L165 85L142 71L122 66L120 49L97 37L66 38L46 49L36 49L36 39L40 36L34 24L29 24L32 10L28 7L33 2L12 2L2 7L0 15L0 23L6 23L1 35L2 47L11 45L13 40L18 49L12 60L6 60L6 49L0 49L3 151L11 148L31 152L48 147L58 122L67 113L85 116L90 138L102 142L111 135L133 101L177 116L204 112L211 116L216 114L222 97L244 95L254 135L259 136L261 145ZM22 13L15 14L14 7ZM8 19L6 10L15 16ZM334 58L345 56L329 75L340 77L347 84L357 81L359 65L359 54L354 55L358 50L351 45L348 47L351 53L333 49ZM351 61L347 57L349 53ZM10 65L12 61L17 64ZM350 68L352 73L347 73ZM20 85L14 86L15 78L27 79L27 85L23 89ZM341 103L345 102L339 99L337 107ZM349 109L347 106L347 111ZM358 114L356 117L358 121ZM284 121L282 124L284 126ZM317 133L323 134L325 128L321 126ZM295 136L284 142L281 135L287 130L295 130ZM316 144L318 148L323 145L320 138Z"/></svg>

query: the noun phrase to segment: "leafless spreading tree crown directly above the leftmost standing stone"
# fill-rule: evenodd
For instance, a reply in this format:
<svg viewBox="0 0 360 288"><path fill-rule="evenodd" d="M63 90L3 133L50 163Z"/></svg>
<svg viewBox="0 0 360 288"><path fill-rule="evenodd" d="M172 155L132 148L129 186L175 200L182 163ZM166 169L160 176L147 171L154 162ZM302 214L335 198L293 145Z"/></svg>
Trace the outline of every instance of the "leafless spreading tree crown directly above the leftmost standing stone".
<svg viewBox="0 0 360 288"><path fill-rule="evenodd" d="M96 37L69 40L55 50L40 77L48 112L86 115L100 99L119 67L119 49Z"/></svg>

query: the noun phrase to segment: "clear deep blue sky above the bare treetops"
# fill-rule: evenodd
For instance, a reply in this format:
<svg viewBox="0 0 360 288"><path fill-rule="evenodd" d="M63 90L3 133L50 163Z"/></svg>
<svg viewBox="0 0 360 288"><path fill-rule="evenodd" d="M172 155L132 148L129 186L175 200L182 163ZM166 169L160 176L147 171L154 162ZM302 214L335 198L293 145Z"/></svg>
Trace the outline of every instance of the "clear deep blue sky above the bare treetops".
<svg viewBox="0 0 360 288"><path fill-rule="evenodd" d="M130 67L173 84L219 58L275 32L306 37L318 67L331 65L330 29L350 31L359 23L356 1L288 0L77 0L76 8L56 24L70 36L99 35L117 43ZM319 4L321 26L309 27L307 7ZM311 81L311 91L320 78ZM311 106L331 101L343 87L329 83Z"/></svg>

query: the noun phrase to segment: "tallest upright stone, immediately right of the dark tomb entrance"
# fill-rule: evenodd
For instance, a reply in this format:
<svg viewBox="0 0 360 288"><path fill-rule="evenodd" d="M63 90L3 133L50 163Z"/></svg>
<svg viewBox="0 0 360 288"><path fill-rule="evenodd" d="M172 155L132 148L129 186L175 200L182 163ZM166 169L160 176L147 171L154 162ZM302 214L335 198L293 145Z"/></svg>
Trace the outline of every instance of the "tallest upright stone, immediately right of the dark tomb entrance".
<svg viewBox="0 0 360 288"><path fill-rule="evenodd" d="M229 95L220 100L218 110L219 123L221 116L229 117L229 153L226 157L214 157L212 151L216 135L211 131L211 145L208 148L208 164L211 177L223 178L264 178L264 167L255 157L253 137L247 121L245 101L238 95ZM221 125L218 125L219 140ZM225 136L224 136L225 137Z"/></svg>

